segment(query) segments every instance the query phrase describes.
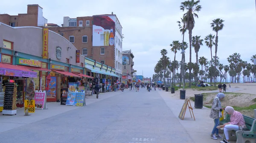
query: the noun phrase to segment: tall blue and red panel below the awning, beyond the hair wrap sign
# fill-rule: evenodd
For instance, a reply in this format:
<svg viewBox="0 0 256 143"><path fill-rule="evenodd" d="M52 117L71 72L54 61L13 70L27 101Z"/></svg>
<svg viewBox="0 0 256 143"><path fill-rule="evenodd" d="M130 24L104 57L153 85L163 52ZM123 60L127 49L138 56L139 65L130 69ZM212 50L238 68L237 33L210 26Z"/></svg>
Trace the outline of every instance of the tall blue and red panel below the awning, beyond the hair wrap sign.
<svg viewBox="0 0 256 143"><path fill-rule="evenodd" d="M56 102L56 87L57 87L57 78L51 76L51 81L49 83L49 90L46 91L47 102Z"/></svg>

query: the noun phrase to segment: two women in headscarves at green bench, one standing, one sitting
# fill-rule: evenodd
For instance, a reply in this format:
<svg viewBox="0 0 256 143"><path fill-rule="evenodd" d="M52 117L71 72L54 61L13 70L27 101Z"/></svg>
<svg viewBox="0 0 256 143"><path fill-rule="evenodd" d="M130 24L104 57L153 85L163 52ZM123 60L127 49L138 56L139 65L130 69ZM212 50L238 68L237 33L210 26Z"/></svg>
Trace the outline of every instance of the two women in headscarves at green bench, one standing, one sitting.
<svg viewBox="0 0 256 143"><path fill-rule="evenodd" d="M212 134L210 137L214 140L222 138L218 133L218 129L223 129L226 139L222 140L220 143L230 143L228 131L244 130L247 127L244 122L244 117L240 112L234 110L234 108L230 106L227 106L226 108L221 107L221 100L223 100L224 98L224 93L218 93L217 96L212 101L210 118L214 119L215 125L212 129ZM227 114L231 115L230 122L224 123L224 125L219 126L220 118L223 116L222 111L225 111L227 112Z"/></svg>

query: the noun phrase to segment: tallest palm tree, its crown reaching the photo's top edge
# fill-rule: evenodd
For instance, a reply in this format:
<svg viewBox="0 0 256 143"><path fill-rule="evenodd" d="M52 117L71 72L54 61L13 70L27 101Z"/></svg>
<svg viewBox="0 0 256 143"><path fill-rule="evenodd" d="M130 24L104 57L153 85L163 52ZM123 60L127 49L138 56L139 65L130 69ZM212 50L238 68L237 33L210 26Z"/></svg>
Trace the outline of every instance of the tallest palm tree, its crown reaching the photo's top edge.
<svg viewBox="0 0 256 143"><path fill-rule="evenodd" d="M199 12L201 10L201 5L198 5L200 0L186 0L180 4L180 10L184 11L186 9L186 13L183 14L183 19L186 21L186 27L189 30L189 62L191 62L191 54L192 54L192 30L195 27L195 19L194 16L198 18L198 14L195 12ZM191 70L192 64L189 66L189 87L191 87Z"/></svg>

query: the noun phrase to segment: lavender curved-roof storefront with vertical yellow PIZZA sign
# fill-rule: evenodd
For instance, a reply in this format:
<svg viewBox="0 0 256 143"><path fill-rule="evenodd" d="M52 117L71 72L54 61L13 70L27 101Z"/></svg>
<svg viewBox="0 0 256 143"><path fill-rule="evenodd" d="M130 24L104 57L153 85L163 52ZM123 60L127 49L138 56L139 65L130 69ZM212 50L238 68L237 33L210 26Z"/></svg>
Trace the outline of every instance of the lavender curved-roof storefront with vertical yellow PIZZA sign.
<svg viewBox="0 0 256 143"><path fill-rule="evenodd" d="M3 23L0 23L0 31L0 43L3 43L0 44L0 67L9 67L3 73L0 71L1 82L14 77L19 85L17 103L20 105L17 107L23 107L27 90L46 91L49 87L47 101L59 101L61 89L68 87L68 82L82 79L73 72L85 72L84 56L63 36L47 28L13 28Z"/></svg>

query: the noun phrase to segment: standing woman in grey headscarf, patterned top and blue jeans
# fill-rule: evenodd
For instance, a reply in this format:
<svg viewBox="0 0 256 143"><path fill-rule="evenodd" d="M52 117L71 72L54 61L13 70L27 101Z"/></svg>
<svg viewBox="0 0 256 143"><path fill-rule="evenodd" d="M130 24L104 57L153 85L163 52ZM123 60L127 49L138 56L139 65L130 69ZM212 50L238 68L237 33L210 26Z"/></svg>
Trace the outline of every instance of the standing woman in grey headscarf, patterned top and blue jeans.
<svg viewBox="0 0 256 143"><path fill-rule="evenodd" d="M218 134L217 126L220 123L220 118L222 116L221 112L223 108L221 107L221 99L225 97L224 93L218 93L217 96L212 101L212 109L210 112L210 118L214 119L214 127L212 129L211 138L217 140L218 138L222 138ZM215 134L215 135L214 135Z"/></svg>

